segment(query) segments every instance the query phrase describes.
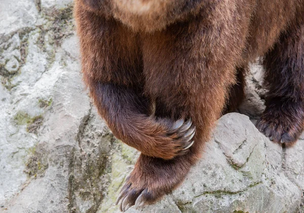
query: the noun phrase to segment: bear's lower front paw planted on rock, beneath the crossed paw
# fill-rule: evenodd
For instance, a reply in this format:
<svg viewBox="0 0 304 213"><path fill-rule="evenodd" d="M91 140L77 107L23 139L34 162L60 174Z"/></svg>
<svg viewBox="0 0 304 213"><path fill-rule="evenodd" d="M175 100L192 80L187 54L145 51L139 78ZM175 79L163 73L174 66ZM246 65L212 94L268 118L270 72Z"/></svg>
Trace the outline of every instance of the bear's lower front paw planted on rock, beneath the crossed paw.
<svg viewBox="0 0 304 213"><path fill-rule="evenodd" d="M119 204L121 211L126 211L133 205L137 208L153 203L172 191L184 179L192 164L190 155L164 160L141 154L116 204Z"/></svg>

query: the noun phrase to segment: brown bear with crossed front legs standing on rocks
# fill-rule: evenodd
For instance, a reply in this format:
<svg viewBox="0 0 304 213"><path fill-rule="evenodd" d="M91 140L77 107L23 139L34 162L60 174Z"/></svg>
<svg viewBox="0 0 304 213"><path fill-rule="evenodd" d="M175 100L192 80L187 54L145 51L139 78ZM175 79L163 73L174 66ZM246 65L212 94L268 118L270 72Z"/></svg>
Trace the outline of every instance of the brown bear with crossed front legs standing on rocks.
<svg viewBox="0 0 304 213"><path fill-rule="evenodd" d="M141 155L121 210L178 186L263 57L258 129L292 145L304 122L304 0L75 0L82 72L113 134Z"/></svg>

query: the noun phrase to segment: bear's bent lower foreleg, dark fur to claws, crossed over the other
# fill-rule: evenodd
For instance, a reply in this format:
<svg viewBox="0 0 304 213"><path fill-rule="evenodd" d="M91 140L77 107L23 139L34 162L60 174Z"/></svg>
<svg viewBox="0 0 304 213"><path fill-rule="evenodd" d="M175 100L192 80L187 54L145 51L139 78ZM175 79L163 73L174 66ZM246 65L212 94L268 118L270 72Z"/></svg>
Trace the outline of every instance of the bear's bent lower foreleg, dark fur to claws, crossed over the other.
<svg viewBox="0 0 304 213"><path fill-rule="evenodd" d="M140 91L99 82L91 88L99 113L117 138L151 157L172 159L185 154L195 134L192 120L174 122L149 115L150 100Z"/></svg>

